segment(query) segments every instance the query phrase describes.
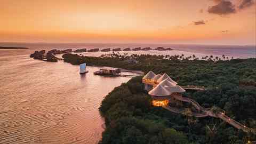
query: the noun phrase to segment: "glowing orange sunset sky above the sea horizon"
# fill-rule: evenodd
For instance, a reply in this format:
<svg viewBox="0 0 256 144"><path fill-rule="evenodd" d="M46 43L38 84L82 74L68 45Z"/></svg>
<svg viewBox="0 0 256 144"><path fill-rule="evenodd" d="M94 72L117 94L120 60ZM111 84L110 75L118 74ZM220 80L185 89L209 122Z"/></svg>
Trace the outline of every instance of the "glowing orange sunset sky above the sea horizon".
<svg viewBox="0 0 256 144"><path fill-rule="evenodd" d="M256 45L256 0L0 0L0 42Z"/></svg>

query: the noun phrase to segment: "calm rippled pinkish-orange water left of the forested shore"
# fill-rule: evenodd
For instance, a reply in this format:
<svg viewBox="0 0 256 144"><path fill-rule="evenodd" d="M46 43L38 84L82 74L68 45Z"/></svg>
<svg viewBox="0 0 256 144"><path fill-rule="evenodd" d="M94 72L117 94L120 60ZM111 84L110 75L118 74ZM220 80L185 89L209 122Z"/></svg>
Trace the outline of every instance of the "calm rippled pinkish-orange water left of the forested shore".
<svg viewBox="0 0 256 144"><path fill-rule="evenodd" d="M0 143L97 143L103 97L130 78L94 76L97 67L81 76L17 51L0 50Z"/></svg>

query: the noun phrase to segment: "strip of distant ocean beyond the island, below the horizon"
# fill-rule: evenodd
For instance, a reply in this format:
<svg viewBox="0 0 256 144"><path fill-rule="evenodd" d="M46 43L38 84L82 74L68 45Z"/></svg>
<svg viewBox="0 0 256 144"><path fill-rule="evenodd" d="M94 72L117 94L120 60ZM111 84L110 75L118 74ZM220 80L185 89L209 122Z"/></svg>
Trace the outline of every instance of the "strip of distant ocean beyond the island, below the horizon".
<svg viewBox="0 0 256 144"><path fill-rule="evenodd" d="M256 46L236 46L236 45L182 45L182 44L94 44L94 43L0 43L0 46L20 46L29 47L29 50L19 50L21 53L28 53L39 50L51 50L51 49L105 49L105 48L117 48L122 49L126 47L151 47L158 46L171 47L174 51L167 52L167 54L185 54L185 55L198 55L198 57L205 57L206 55L213 55L221 57L223 54L229 58L256 58ZM6 50L8 54L11 54L13 50ZM166 54L166 52L154 51L152 54ZM5 55L5 52L1 51L1 55ZM15 55L15 52L14 52Z"/></svg>

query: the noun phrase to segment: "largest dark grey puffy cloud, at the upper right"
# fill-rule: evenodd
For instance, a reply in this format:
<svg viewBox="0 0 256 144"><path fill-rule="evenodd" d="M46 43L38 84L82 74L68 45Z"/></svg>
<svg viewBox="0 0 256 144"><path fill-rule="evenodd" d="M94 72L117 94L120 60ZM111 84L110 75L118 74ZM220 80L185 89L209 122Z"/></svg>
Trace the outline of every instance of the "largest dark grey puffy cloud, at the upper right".
<svg viewBox="0 0 256 144"><path fill-rule="evenodd" d="M218 0L214 0L217 2ZM235 13L235 5L233 5L230 1L220 0L217 5L210 6L208 9L209 13L225 15L230 13Z"/></svg>

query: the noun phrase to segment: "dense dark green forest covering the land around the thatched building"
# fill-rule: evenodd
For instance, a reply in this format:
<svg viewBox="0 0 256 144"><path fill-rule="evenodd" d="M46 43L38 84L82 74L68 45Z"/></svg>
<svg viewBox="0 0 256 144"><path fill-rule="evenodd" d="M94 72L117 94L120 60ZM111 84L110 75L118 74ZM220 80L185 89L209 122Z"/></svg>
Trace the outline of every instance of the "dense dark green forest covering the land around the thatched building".
<svg viewBox="0 0 256 144"><path fill-rule="evenodd" d="M164 60L140 55L129 63L122 58L63 55L66 62L167 73L179 85L202 85L207 91L186 92L184 97L204 107L216 106L236 121L256 128L256 60ZM186 105L184 103L184 105ZM116 87L102 101L106 130L100 143L245 143L255 135L235 129L221 119L191 118L151 106L141 77Z"/></svg>

